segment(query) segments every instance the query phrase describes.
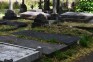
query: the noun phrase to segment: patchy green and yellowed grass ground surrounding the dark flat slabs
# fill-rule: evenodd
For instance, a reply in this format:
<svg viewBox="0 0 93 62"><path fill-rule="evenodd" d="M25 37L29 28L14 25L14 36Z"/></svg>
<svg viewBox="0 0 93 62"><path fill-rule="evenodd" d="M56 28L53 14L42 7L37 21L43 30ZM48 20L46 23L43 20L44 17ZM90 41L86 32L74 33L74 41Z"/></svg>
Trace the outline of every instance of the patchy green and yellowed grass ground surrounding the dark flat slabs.
<svg viewBox="0 0 93 62"><path fill-rule="evenodd" d="M16 36L18 38L30 39L30 40L38 40L39 42L43 43L51 43L51 44L59 44L56 40L41 40L37 38L32 38L23 35L13 35L14 32L19 32L23 30L34 30L37 32L46 32L46 33L60 33L66 35L75 35L79 36L81 39L67 49L56 51L51 55L43 55L41 59L37 60L36 62L76 62L80 58L88 55L93 51L93 30L81 29L74 26L81 26L81 27L91 27L93 28L93 24L91 23L72 23L72 22L61 22L57 24L52 24L51 26L47 27L35 27L32 28L33 20L27 19L18 19L18 20L9 20L9 21L17 21L17 22L25 22L27 23L26 27L18 28L15 30L11 30L15 28L15 26L8 26L8 25L0 25L0 36ZM10 29L10 30L9 30ZM8 41L13 42L13 41Z"/></svg>

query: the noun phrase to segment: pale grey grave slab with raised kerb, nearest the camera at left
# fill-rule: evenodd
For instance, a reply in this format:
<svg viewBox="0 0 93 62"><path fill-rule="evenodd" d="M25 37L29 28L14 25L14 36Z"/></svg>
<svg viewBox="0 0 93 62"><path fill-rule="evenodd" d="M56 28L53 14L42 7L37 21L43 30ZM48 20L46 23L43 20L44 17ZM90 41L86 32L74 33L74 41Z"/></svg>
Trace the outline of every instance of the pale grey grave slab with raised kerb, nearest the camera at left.
<svg viewBox="0 0 93 62"><path fill-rule="evenodd" d="M40 58L40 52L33 48L0 42L0 62L11 59L13 62L32 62L38 58Z"/></svg>

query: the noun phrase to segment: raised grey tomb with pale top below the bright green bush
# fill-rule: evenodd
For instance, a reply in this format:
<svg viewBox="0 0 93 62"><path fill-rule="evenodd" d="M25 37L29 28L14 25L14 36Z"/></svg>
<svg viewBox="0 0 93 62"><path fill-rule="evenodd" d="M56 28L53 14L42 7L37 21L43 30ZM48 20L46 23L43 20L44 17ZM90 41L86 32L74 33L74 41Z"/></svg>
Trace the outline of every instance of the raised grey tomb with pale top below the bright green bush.
<svg viewBox="0 0 93 62"><path fill-rule="evenodd" d="M78 13L78 12L66 12L60 15L62 21L73 21L73 22L92 22L93 14L91 13Z"/></svg>

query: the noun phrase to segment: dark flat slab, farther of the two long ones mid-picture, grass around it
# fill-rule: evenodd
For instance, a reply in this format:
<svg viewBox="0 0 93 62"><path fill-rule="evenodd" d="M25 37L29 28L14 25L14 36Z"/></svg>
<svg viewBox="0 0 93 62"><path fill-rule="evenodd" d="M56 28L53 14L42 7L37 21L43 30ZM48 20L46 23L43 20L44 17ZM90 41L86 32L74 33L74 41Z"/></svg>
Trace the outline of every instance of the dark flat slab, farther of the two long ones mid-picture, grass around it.
<svg viewBox="0 0 93 62"><path fill-rule="evenodd" d="M61 43L65 43L67 45L71 45L80 39L79 37L76 37L76 36L69 36L69 35L62 35L62 34L50 34L50 33L44 33L44 32L35 32L31 30L15 32L14 34L31 36L34 38L39 38L39 39L44 39L44 40L55 40Z"/></svg>

